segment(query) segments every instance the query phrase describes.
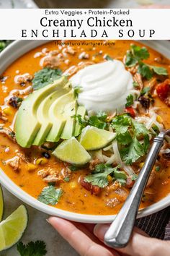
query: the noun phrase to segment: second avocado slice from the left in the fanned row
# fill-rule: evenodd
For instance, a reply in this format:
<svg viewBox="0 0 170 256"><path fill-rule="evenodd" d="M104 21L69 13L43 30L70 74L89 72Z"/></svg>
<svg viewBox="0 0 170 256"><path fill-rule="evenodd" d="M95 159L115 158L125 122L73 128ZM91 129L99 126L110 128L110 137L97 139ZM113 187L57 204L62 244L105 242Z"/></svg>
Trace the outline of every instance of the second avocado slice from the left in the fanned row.
<svg viewBox="0 0 170 256"><path fill-rule="evenodd" d="M40 106L37 109L37 119L40 122L41 127L37 132L37 135L32 145L40 146L45 142L45 139L48 136L51 127L53 126L53 122L50 120L48 114L49 108L56 99L60 98L61 95L68 93L70 90L71 88L69 88L68 85L66 85L64 88L61 87L58 90L55 90L55 92L48 95L48 97L45 98L42 103L40 103Z"/></svg>

